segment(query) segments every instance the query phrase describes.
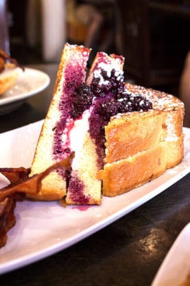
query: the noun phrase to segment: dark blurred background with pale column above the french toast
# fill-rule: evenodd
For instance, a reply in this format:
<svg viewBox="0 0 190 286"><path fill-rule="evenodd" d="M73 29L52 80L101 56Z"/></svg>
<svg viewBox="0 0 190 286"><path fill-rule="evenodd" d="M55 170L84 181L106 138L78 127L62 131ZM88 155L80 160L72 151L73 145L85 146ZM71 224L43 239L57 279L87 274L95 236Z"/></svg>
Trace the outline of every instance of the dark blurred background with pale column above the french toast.
<svg viewBox="0 0 190 286"><path fill-rule="evenodd" d="M126 80L181 93L190 47L190 1L5 2L10 54L23 65L59 63L64 43L82 44L93 48L89 65L98 50L123 54Z"/></svg>

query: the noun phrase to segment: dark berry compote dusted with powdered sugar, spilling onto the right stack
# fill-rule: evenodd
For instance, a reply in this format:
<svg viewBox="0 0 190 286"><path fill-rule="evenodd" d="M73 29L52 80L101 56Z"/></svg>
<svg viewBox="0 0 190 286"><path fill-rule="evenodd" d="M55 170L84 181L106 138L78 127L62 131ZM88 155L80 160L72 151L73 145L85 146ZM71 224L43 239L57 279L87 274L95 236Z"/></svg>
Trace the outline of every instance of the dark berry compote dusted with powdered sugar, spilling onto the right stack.
<svg viewBox="0 0 190 286"><path fill-rule="evenodd" d="M112 69L110 76L104 70L100 74L101 77L93 78L91 83L91 92L95 98L93 111L89 118L89 132L95 140L98 163L102 167L105 143L104 126L108 124L110 117L117 113L147 111L152 109L152 102L141 94L130 94L121 72Z"/></svg>

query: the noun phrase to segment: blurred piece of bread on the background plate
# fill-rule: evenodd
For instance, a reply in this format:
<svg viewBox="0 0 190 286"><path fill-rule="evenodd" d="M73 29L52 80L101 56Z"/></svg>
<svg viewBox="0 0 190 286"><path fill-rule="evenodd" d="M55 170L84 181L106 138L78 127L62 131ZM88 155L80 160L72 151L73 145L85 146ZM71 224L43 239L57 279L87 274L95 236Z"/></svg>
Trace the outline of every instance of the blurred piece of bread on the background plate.
<svg viewBox="0 0 190 286"><path fill-rule="evenodd" d="M19 67L12 63L6 63L5 69L0 74L0 96L8 91L19 76Z"/></svg>

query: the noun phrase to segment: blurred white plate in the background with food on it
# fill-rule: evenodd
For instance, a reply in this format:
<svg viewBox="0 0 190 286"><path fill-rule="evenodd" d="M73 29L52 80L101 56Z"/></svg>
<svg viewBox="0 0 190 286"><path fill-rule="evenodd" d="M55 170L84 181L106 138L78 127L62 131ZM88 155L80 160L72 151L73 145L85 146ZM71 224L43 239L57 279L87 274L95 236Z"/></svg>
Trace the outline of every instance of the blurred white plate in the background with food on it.
<svg viewBox="0 0 190 286"><path fill-rule="evenodd" d="M0 115L18 108L23 101L43 91L50 83L50 78L38 69L19 69L19 77L11 89L0 96Z"/></svg>

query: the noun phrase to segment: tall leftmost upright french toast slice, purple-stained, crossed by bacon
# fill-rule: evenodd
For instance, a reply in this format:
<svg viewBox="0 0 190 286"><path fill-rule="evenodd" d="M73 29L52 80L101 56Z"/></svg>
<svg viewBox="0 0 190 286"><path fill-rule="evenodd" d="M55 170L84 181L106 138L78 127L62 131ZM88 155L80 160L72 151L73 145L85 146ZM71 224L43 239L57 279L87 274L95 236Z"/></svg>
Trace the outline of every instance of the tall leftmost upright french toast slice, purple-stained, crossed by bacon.
<svg viewBox="0 0 190 286"><path fill-rule="evenodd" d="M75 87L86 78L86 64L90 50L83 46L64 45L51 104L32 162L30 176L40 173L71 153L69 131L74 121L71 117L71 95ZM33 199L57 200L67 195L67 177L61 170L54 171L43 179L38 194Z"/></svg>

